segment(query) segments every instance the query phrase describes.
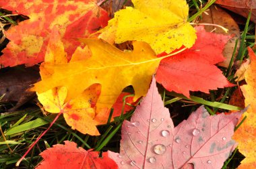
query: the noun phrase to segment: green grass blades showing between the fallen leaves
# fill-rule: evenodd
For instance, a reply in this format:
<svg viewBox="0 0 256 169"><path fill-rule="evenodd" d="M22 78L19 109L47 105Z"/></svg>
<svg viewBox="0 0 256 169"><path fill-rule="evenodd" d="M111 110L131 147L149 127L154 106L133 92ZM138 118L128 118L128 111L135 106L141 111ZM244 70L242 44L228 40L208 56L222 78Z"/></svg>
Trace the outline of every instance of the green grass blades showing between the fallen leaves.
<svg viewBox="0 0 256 169"><path fill-rule="evenodd" d="M206 1L202 1L203 5ZM201 8L200 1L188 1L190 7L189 21L193 21L200 14L207 9L214 1L210 1ZM9 15L0 13L1 23L15 24ZM242 61L247 57L247 46L253 46L255 35L253 33L254 25L247 23L243 27L241 33L241 46L239 48L236 60ZM4 30L2 30L4 31ZM237 45L237 43L236 43ZM234 54L233 54L234 60ZM231 82L234 82L234 68L232 64L228 68L223 68L225 74ZM170 93L164 91L160 87L160 91L164 100L164 105L170 109L170 113L174 124L177 125L189 116L191 111L194 111L199 105L205 105L206 109L214 115L216 112L226 112L228 110L238 110L240 107L228 105L228 101L236 87L219 89L212 91L210 95L203 93L192 93L191 98L187 98L177 93ZM11 103L0 103L0 168L15 168L15 163L28 150L28 147L36 140L37 137L49 126L49 123L55 119L56 115L51 114L44 116L41 109L36 105L24 105L20 111L6 113L6 109L11 107ZM125 104L125 103L124 103ZM178 112L178 113L177 113ZM183 113L181 113L183 112ZM79 133L79 131L72 130L69 127L63 116L61 116L53 124L51 129L40 139L40 141L32 148L32 151L20 164L20 168L34 168L39 164L42 158L39 156L40 152L46 148L50 148L55 144L63 144L63 141L69 140L75 142L77 146L85 148L86 150L94 148L96 151L111 150L118 152L121 139L121 125L125 119L130 119L133 111L115 118L115 121L109 122L106 125L98 126L102 135L91 136ZM108 118L110 119L110 118ZM223 168L235 168L238 163L243 160L243 155L235 150L226 160Z"/></svg>

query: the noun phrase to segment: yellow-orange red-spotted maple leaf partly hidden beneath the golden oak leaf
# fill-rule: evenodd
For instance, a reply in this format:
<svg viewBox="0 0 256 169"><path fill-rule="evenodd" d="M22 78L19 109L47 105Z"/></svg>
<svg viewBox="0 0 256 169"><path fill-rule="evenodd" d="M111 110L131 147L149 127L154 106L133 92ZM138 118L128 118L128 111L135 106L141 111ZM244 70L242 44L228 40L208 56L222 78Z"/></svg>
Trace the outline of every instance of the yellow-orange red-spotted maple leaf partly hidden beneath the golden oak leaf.
<svg viewBox="0 0 256 169"><path fill-rule="evenodd" d="M79 52L75 52L79 55ZM51 40L47 46L45 61L40 68L42 79L51 77L53 69L44 69L46 65L67 64L67 54L64 50L58 28L54 27L51 33ZM96 125L101 124L97 117L92 103L96 103L100 88L94 84L81 94L67 99L66 87L54 87L43 93L37 93L38 100L44 109L50 113L63 113L65 121L72 129L90 135L100 135ZM101 115L102 116L102 115ZM107 119L108 117L101 117Z"/></svg>

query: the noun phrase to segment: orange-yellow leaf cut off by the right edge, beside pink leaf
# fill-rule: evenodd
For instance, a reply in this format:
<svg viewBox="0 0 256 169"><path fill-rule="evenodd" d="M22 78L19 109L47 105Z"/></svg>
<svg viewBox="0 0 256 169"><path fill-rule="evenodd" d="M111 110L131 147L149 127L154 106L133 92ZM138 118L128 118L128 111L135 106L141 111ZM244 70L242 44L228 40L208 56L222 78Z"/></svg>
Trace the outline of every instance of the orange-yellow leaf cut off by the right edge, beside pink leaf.
<svg viewBox="0 0 256 169"><path fill-rule="evenodd" d="M234 133L234 139L238 142L238 150L245 156L238 168L253 169L256 168L256 56L251 48L248 48L251 64L245 71L245 80L247 84L241 87L245 96L245 106L249 109L244 113L247 116L244 123Z"/></svg>

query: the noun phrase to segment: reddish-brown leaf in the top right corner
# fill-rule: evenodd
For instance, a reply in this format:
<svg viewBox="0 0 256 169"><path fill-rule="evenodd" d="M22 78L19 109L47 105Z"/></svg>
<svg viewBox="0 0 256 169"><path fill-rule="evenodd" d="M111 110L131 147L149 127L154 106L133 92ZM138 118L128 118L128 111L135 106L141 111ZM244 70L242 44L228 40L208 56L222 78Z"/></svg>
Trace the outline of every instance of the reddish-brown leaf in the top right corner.
<svg viewBox="0 0 256 169"><path fill-rule="evenodd" d="M244 17L248 17L249 11L252 9L251 21L256 22L255 0L217 0L215 3Z"/></svg>

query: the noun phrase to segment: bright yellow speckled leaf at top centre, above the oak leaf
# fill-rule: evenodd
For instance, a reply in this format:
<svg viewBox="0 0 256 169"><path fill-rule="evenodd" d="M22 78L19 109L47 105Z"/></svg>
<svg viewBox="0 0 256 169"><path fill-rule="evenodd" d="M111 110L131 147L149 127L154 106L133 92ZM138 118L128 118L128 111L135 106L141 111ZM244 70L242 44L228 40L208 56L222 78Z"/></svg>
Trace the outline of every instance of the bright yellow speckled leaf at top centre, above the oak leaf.
<svg viewBox="0 0 256 169"><path fill-rule="evenodd" d="M133 5L117 11L99 37L117 44L128 40L147 42L156 54L170 53L183 45L190 48L195 43L185 0L133 0Z"/></svg>

